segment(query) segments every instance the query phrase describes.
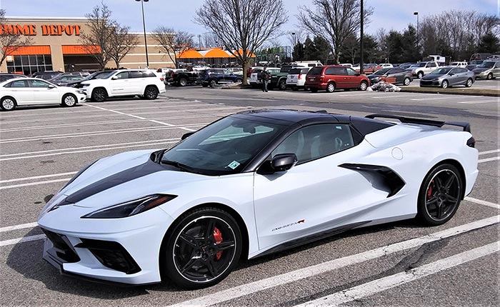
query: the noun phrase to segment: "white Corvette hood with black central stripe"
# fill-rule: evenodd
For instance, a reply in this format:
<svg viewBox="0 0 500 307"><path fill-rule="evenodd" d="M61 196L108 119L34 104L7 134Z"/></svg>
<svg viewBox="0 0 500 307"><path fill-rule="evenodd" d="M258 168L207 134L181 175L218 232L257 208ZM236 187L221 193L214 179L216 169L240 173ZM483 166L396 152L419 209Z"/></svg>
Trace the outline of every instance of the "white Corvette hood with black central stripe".
<svg viewBox="0 0 500 307"><path fill-rule="evenodd" d="M154 193L175 193L186 183L211 178L160 165L151 160L151 153L131 151L96 161L54 198L79 207L104 208Z"/></svg>

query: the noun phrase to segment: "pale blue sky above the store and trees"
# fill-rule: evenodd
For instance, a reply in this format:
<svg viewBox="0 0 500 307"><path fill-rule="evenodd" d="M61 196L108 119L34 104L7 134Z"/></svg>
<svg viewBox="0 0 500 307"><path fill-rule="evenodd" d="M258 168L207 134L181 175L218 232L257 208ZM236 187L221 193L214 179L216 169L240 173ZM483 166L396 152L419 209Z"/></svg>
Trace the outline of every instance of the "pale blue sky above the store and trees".
<svg viewBox="0 0 500 307"><path fill-rule="evenodd" d="M121 24L131 27L131 31L142 31L141 4L135 0L103 0L113 11L113 18ZM144 3L146 31L156 26L171 26L174 29L203 34L207 30L195 24L194 14L204 0L149 0ZM470 9L489 14L499 14L500 0L365 0L365 6L373 6L374 15L371 24L365 30L375 34L376 30L402 30L409 23L416 24L414 11L419 11L420 18L439 14L449 9ZM101 0L0 0L0 8L7 16L84 16ZM311 0L284 0L289 14L289 22L284 31L297 29L297 6L311 6ZM282 42L288 42L286 38Z"/></svg>

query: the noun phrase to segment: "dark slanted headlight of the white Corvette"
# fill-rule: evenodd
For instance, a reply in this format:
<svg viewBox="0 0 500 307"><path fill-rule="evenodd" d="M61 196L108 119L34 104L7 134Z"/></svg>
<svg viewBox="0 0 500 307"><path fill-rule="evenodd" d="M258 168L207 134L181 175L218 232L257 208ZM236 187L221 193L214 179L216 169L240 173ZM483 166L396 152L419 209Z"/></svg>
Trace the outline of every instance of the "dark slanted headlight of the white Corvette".
<svg viewBox="0 0 500 307"><path fill-rule="evenodd" d="M134 201L127 201L126 203L119 203L115 206L102 208L86 214L81 218L126 218L127 216L134 216L160 206L176 197L176 195L154 194Z"/></svg>

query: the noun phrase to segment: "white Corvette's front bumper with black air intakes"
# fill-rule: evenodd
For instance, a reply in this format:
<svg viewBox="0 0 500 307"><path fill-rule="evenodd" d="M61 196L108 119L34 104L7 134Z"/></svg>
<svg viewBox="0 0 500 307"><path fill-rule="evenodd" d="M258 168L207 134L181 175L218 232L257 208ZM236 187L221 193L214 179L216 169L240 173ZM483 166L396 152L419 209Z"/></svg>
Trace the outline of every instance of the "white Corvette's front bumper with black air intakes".
<svg viewBox="0 0 500 307"><path fill-rule="evenodd" d="M132 285L161 282L160 247L173 221L161 208L129 218L78 217L71 223L68 215L75 216L74 211L81 211L76 214L81 216L89 210L67 207L57 208L39 219L47 236L44 260L61 273L87 279ZM73 212L68 214L69 211Z"/></svg>

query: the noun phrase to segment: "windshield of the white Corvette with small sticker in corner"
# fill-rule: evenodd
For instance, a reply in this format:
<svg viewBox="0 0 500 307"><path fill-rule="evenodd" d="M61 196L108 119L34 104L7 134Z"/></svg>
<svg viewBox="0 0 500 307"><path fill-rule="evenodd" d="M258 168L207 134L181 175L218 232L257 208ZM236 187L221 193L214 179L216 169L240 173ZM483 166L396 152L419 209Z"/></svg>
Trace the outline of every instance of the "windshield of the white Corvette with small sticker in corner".
<svg viewBox="0 0 500 307"><path fill-rule="evenodd" d="M221 176L241 172L286 126L228 116L166 151L161 163Z"/></svg>

